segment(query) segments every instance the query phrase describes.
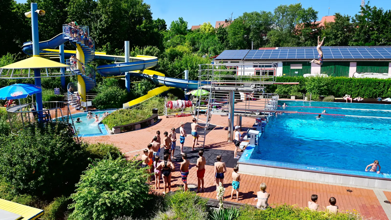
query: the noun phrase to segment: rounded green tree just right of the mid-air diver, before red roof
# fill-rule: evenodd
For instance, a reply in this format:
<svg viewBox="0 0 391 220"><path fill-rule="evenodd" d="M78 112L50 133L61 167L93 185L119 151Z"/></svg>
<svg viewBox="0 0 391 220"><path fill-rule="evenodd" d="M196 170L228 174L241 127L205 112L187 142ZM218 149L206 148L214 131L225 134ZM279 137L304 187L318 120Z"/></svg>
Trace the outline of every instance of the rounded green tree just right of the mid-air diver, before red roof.
<svg viewBox="0 0 391 220"><path fill-rule="evenodd" d="M325 46L348 46L354 34L350 16L334 14L335 22L325 22L322 37L326 37Z"/></svg>

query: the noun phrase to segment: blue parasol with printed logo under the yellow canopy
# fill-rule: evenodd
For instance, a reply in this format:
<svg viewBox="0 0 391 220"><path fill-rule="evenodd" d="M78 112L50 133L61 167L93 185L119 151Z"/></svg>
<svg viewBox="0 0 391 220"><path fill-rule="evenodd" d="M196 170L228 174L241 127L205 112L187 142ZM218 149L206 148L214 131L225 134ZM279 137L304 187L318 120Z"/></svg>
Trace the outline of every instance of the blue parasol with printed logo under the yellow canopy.
<svg viewBox="0 0 391 220"><path fill-rule="evenodd" d="M28 83L18 83L0 88L0 99L22 99L42 92L42 88Z"/></svg>

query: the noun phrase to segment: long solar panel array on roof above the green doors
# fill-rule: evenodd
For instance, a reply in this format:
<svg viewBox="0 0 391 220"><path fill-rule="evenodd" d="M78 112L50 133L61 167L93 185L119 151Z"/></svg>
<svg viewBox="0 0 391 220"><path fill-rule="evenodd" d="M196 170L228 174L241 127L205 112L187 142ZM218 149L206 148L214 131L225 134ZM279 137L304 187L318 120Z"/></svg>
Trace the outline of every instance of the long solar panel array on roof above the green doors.
<svg viewBox="0 0 391 220"><path fill-rule="evenodd" d="M391 47L348 47L348 48L322 48L325 59L391 59ZM225 52L225 51L224 51ZM258 59L317 59L316 48L308 49L275 49L275 50L250 50L244 57L245 60ZM220 57L220 56L219 56ZM217 57L217 58L219 58ZM221 58L221 59L233 59Z"/></svg>

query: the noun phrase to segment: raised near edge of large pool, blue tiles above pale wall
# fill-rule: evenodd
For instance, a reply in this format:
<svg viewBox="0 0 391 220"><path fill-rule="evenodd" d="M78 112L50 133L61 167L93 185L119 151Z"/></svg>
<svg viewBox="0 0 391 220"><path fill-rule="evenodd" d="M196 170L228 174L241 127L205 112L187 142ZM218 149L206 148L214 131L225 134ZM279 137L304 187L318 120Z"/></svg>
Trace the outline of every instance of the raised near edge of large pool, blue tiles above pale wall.
<svg viewBox="0 0 391 220"><path fill-rule="evenodd" d="M391 176L387 173L383 175L364 171L250 159L254 149L255 147L248 146L237 162L241 173L280 177L299 181L316 181L325 184L344 184L391 189Z"/></svg>

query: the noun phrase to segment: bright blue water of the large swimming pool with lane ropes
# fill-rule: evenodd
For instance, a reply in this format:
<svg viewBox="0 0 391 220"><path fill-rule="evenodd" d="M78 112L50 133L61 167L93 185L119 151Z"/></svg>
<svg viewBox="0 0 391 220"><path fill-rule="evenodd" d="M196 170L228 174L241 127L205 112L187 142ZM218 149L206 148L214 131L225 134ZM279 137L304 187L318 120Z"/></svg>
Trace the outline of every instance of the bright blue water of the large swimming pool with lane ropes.
<svg viewBox="0 0 391 220"><path fill-rule="evenodd" d="M250 159L359 171L364 171L373 160L379 160L381 171L391 173L391 105L303 101L278 101L278 105L284 102L289 107L278 109L313 113L321 113L325 109L327 114L390 119L334 115L322 115L323 118L316 119L314 114L291 113L273 115L260 138L260 146L254 149Z"/></svg>

